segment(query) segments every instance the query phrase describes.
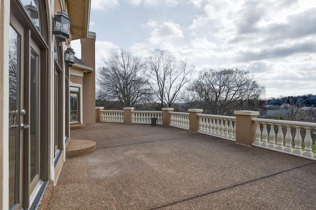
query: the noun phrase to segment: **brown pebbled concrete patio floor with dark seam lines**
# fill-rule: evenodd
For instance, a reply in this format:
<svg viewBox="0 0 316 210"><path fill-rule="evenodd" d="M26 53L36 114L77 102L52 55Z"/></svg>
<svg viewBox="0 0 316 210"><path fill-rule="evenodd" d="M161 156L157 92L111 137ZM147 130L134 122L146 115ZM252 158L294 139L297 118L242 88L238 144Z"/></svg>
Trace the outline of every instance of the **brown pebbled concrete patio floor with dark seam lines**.
<svg viewBox="0 0 316 210"><path fill-rule="evenodd" d="M187 130L97 123L67 158L50 210L316 209L316 162Z"/></svg>

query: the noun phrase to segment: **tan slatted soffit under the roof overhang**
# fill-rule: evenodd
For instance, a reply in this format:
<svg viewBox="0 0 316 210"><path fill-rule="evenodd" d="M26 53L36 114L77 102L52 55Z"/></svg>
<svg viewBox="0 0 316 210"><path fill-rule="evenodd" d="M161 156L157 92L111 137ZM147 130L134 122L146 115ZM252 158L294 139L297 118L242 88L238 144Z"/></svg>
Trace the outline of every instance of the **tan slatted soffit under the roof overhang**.
<svg viewBox="0 0 316 210"><path fill-rule="evenodd" d="M85 38L89 30L90 0L67 0L71 39Z"/></svg>

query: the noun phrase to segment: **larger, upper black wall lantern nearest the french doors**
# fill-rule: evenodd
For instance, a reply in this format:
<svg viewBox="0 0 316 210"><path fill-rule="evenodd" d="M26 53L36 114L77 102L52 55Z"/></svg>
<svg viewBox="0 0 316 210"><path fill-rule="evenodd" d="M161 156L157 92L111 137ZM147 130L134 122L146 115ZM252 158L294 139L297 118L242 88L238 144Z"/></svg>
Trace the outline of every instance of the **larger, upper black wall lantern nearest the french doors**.
<svg viewBox="0 0 316 210"><path fill-rule="evenodd" d="M69 28L70 18L66 12L59 11L57 14L54 14L53 34L58 41L64 42L69 38Z"/></svg>

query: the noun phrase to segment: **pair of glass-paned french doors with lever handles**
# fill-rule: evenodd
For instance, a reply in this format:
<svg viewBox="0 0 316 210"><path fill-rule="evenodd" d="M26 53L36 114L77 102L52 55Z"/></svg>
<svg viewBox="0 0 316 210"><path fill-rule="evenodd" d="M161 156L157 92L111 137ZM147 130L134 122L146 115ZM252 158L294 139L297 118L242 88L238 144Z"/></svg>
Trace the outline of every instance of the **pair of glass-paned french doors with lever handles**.
<svg viewBox="0 0 316 210"><path fill-rule="evenodd" d="M9 205L29 208L40 183L40 48L13 17L9 29Z"/></svg>

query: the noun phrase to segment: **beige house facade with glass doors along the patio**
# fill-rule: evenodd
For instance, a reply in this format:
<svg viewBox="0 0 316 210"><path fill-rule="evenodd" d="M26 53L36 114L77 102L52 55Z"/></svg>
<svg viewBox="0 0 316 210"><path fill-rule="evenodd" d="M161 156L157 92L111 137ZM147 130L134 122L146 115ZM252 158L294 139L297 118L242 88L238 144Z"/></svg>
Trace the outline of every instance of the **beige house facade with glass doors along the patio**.
<svg viewBox="0 0 316 210"><path fill-rule="evenodd" d="M90 0L0 0L0 209L37 209L47 186L57 183L73 88L80 88L79 122L95 122L89 14ZM85 63L81 84L65 57L76 39Z"/></svg>

